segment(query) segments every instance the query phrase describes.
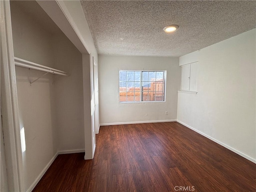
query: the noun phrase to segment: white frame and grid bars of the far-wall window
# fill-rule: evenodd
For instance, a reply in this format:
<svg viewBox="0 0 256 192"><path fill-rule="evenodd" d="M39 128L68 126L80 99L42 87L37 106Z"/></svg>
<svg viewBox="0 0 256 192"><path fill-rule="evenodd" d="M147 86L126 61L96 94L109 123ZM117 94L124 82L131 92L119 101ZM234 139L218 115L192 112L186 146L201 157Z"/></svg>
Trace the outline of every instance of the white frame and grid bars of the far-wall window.
<svg viewBox="0 0 256 192"><path fill-rule="evenodd" d="M120 82L128 82L127 80L126 81L120 81L120 71L125 71L125 72L140 72L140 101L135 101L135 91L134 91L134 101L127 101L127 97L128 97L128 94L127 94L127 90L126 90L126 101L120 101ZM163 72L163 90L162 90L162 100L160 101L143 101L143 90L142 90L142 83L143 82L153 82L153 81L142 81L142 72ZM166 102L166 70L119 70L118 71L118 100L119 100L119 103L141 103L141 102ZM135 74L134 74L134 81L131 81L131 82L138 82L138 81L135 81ZM157 81L155 80L154 82L160 82L160 81ZM150 91L151 92L151 91ZM149 91L148 91L149 93ZM156 90L155 90L155 93L156 93Z"/></svg>

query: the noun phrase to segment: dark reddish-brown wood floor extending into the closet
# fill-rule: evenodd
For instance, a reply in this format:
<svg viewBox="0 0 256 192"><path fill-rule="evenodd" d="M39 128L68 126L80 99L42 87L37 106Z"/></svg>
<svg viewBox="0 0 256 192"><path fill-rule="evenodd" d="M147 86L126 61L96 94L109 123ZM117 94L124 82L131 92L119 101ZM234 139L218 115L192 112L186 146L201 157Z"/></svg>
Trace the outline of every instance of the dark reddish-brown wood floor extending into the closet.
<svg viewBox="0 0 256 192"><path fill-rule="evenodd" d="M256 164L178 122L102 126L93 160L58 155L33 191L256 192Z"/></svg>

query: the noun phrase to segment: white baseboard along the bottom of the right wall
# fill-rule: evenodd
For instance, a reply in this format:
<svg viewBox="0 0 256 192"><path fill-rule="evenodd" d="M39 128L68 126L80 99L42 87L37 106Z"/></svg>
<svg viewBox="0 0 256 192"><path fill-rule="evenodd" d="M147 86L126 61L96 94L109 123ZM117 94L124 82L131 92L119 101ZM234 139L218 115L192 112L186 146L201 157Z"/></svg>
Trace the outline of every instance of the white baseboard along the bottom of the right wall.
<svg viewBox="0 0 256 192"><path fill-rule="evenodd" d="M232 147L230 147L230 146L228 146L228 145L226 145L226 144L224 144L222 142L220 142L219 140L216 140L216 139L212 138L211 136L208 136L208 135L204 134L203 132L201 132L201 131L199 131L199 130L197 130L197 129L195 129L195 128L193 128L193 127L191 127L191 126L189 126L189 125L187 125L187 124L185 124L183 122L181 122L180 120L177 120L177 122L179 122L180 124L182 124L182 125L190 128L190 129L194 130L195 132L201 134L202 136L205 136L206 138L208 138L208 139L210 139L210 140L220 144L221 146L231 150L232 152L235 152L236 154L238 154L238 155L248 159L249 161L256 163L256 159L254 159L254 158L252 158L252 157L250 157L250 156L248 156L248 155L246 155L246 154L244 154L244 153L242 153L242 152L240 152L240 151L238 151L238 150L236 150L236 149L234 149L234 148L232 148Z"/></svg>

